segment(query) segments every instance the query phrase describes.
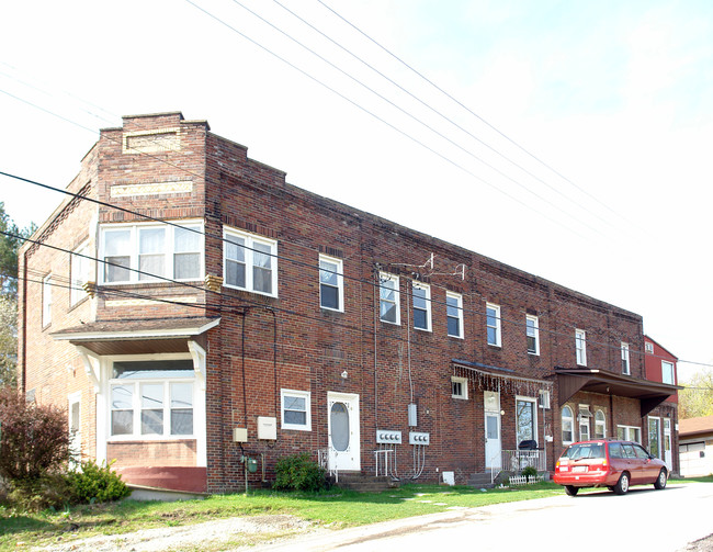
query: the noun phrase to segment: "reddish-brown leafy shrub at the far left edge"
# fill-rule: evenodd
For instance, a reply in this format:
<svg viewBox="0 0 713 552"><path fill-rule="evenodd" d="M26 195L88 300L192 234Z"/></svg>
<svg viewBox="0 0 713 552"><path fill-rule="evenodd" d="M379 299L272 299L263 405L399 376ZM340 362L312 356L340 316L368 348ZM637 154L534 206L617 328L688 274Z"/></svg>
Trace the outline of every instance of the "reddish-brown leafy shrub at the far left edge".
<svg viewBox="0 0 713 552"><path fill-rule="evenodd" d="M14 483L57 471L69 458L67 413L0 388L0 476Z"/></svg>

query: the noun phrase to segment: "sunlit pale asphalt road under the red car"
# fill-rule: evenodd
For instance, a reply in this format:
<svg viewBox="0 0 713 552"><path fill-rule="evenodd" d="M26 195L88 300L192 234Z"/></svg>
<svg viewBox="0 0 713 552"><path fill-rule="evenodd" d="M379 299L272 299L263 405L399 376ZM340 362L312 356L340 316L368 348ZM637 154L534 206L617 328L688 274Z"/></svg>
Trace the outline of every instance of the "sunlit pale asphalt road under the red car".
<svg viewBox="0 0 713 552"><path fill-rule="evenodd" d="M675 552L713 533L713 484L633 487L450 510L373 526L320 532L251 550L478 552L576 550Z"/></svg>

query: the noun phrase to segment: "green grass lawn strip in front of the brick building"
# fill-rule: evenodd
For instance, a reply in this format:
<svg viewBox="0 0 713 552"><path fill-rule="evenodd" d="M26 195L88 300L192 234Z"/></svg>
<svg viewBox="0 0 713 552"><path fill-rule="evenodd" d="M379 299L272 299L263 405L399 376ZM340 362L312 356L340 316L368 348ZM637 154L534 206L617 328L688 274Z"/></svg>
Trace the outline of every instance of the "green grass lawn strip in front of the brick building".
<svg viewBox="0 0 713 552"><path fill-rule="evenodd" d="M18 514L0 506L0 550L25 550L61 540L115 534L155 527L200 523L234 516L291 514L331 528L375 523L389 519L528 500L562 494L554 483L483 492L473 487L405 485L383 493L332 488L321 493L253 491L248 495L215 495L177 503L123 500L77 506L64 511Z"/></svg>

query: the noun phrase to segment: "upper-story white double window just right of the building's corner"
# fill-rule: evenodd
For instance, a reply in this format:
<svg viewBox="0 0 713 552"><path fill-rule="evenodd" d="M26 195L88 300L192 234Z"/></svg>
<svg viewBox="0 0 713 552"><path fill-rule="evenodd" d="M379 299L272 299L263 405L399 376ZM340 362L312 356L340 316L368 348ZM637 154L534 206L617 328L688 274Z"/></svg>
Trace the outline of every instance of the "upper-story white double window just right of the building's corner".
<svg viewBox="0 0 713 552"><path fill-rule="evenodd" d="M223 228L223 285L278 296L278 243Z"/></svg>

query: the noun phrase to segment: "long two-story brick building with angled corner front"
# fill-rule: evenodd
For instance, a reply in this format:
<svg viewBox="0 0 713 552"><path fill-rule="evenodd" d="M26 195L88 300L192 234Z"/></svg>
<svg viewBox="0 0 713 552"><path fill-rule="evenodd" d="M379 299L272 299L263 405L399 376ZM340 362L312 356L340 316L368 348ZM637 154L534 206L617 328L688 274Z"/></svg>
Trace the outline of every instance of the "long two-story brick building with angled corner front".
<svg viewBox="0 0 713 552"><path fill-rule="evenodd" d="M642 317L318 196L180 113L101 132L20 251L22 388L185 491L283 455L465 483L624 436L675 393ZM530 449L530 450L523 450Z"/></svg>

